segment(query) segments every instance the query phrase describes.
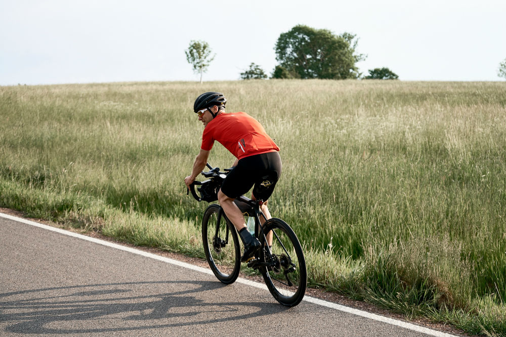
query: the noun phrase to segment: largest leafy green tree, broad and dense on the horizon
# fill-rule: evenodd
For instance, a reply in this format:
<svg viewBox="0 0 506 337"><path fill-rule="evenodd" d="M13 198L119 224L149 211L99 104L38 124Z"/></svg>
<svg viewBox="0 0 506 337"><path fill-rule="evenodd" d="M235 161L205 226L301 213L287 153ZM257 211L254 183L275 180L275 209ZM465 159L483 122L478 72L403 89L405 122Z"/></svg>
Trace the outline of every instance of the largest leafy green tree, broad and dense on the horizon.
<svg viewBox="0 0 506 337"><path fill-rule="evenodd" d="M288 73L300 78L358 78L355 63L365 56L355 54L355 36L298 25L279 36L274 48L276 60Z"/></svg>

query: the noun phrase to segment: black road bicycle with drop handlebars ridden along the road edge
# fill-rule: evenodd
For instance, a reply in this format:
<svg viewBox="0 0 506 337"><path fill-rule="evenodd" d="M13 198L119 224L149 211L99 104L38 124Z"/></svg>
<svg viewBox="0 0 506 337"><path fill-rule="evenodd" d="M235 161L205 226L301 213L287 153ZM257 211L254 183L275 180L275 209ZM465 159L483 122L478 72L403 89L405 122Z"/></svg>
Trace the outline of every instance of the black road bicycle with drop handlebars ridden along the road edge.
<svg viewBox="0 0 506 337"><path fill-rule="evenodd" d="M231 169L220 171L207 164L208 172L201 174L208 178L205 181L194 181L191 191L197 201L212 203L218 200L218 191ZM195 191L197 187L200 196ZM261 202L245 196L235 199L245 217L255 220L255 232L252 233L261 247L255 257L247 261L247 266L258 270L272 296L282 305L298 305L306 293L307 270L302 246L295 232L281 219L271 218L262 226L260 217L264 216ZM264 217L265 219L265 217ZM246 221L247 222L247 221ZM249 228L248 228L249 229ZM272 247L269 247L266 235L272 231ZM204 211L202 218L202 243L209 267L223 283L235 282L241 267L241 249L236 228L227 218L222 207L211 204Z"/></svg>

